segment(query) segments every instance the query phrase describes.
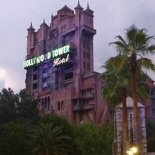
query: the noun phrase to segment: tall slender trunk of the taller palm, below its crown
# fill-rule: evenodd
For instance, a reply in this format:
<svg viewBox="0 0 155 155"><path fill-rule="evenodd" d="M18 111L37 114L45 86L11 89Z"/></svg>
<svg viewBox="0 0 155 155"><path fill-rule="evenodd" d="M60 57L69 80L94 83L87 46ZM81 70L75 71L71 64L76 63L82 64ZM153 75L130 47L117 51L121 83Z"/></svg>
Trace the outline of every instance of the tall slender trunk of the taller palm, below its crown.
<svg viewBox="0 0 155 155"><path fill-rule="evenodd" d="M135 142L139 143L139 115L137 106L137 93L136 93L136 56L131 56L131 89L132 89L132 99L134 108L134 125L135 125Z"/></svg>

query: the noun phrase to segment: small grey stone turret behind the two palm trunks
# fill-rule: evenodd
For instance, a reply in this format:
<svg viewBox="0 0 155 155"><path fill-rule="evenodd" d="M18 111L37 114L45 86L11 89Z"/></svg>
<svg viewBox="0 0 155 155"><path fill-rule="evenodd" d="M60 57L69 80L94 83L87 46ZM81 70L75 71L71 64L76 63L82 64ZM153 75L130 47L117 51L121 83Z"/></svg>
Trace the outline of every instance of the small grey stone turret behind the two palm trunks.
<svg viewBox="0 0 155 155"><path fill-rule="evenodd" d="M134 109L133 100L131 97L126 98L127 106L127 118L128 118L128 136L129 142L125 144L124 142L124 125L123 125L123 104L119 104L115 109L114 118L114 142L113 142L113 155L125 155L126 151L131 148L135 143L135 126L134 126ZM137 102L139 110L139 148L140 154L146 155L147 153L147 135L146 135L146 122L145 122L145 106ZM125 145L127 145L125 147ZM138 153L139 154L139 153Z"/></svg>

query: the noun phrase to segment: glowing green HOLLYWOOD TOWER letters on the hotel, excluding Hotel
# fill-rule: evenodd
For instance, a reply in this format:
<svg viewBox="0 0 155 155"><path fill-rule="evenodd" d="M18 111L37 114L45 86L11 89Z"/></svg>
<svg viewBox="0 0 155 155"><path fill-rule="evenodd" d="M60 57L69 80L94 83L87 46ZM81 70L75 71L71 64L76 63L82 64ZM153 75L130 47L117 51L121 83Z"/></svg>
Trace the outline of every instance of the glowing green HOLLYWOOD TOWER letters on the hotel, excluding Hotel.
<svg viewBox="0 0 155 155"><path fill-rule="evenodd" d="M66 45L66 46L60 47L56 50L52 50L51 52L47 52L46 54L42 54L38 57L34 57L32 59L25 60L23 62L23 67L27 68L27 67L39 64L45 60L49 60L51 58L56 59L57 57L65 54L65 53L69 53L69 52L70 52L70 45Z"/></svg>

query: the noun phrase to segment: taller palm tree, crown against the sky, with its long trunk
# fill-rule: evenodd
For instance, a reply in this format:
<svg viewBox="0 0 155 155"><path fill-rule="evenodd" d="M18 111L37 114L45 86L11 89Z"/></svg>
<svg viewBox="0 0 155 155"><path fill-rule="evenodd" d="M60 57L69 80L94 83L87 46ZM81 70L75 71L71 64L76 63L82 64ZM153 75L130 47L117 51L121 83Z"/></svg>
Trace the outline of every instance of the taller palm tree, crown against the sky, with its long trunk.
<svg viewBox="0 0 155 155"><path fill-rule="evenodd" d="M116 37L118 40L111 42L110 45L115 45L117 51L122 55L119 63L119 67L122 67L124 63L130 60L130 79L132 99L134 106L134 124L135 124L135 142L139 142L139 116L137 107L137 90L136 90L136 74L142 71L143 68L155 70L155 65L152 61L144 56L148 54L154 54L155 45L150 45L150 41L153 36L146 34L146 29L138 29L132 25L126 30L126 39L123 39L120 35ZM117 66L118 67L118 66Z"/></svg>

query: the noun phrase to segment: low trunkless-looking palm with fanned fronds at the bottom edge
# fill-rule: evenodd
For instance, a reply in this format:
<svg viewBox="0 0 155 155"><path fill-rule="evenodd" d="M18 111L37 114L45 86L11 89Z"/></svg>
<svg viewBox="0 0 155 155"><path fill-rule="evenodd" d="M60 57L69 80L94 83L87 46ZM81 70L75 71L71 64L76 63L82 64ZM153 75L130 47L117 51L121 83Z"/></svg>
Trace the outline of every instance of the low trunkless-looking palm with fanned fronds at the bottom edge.
<svg viewBox="0 0 155 155"><path fill-rule="evenodd" d="M30 135L34 140L33 153L37 155L67 155L69 151L65 144L69 137L62 134L62 127L40 123L30 130Z"/></svg>

